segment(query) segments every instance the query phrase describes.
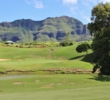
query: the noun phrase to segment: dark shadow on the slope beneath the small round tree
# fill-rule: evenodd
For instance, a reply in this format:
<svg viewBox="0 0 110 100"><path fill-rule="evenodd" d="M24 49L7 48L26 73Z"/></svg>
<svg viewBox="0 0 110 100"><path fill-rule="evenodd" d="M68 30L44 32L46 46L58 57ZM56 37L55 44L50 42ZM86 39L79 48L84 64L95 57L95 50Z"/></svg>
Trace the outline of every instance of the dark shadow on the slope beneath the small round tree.
<svg viewBox="0 0 110 100"><path fill-rule="evenodd" d="M93 53L90 53L90 54L87 54L87 55L81 55L81 56L73 57L73 58L70 58L69 60L75 60L75 59L81 59L81 61L93 63L93 61L92 61Z"/></svg>

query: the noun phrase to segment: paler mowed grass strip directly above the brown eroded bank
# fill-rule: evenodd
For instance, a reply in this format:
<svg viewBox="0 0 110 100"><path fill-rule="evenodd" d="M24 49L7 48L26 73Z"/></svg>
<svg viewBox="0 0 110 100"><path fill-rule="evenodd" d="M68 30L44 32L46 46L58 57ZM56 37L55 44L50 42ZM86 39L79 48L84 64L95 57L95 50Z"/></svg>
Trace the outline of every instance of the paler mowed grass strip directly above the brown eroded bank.
<svg viewBox="0 0 110 100"><path fill-rule="evenodd" d="M77 68L84 70L92 70L93 65L88 62L79 60L9 60L0 62L0 71L8 70L32 70L37 71L41 69L67 69Z"/></svg>

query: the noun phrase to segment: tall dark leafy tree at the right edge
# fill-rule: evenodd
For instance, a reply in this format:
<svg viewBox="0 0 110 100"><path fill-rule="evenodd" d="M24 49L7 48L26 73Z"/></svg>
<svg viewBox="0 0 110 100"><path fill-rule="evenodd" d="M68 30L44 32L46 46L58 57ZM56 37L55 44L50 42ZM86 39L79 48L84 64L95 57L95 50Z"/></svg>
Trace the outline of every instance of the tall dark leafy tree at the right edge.
<svg viewBox="0 0 110 100"><path fill-rule="evenodd" d="M92 48L96 65L93 73L99 69L100 74L110 75L110 4L100 3L95 6L91 20L88 29L94 35Z"/></svg>

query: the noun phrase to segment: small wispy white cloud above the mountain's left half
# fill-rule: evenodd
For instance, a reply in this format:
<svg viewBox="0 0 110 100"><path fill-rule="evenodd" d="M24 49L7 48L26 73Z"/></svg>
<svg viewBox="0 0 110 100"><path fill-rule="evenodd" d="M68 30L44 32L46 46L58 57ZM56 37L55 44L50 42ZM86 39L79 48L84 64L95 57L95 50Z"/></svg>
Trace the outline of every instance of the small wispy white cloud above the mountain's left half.
<svg viewBox="0 0 110 100"><path fill-rule="evenodd" d="M44 8L44 5L43 5L42 1L40 1L40 0L25 0L25 2L29 5L34 6L37 9Z"/></svg>

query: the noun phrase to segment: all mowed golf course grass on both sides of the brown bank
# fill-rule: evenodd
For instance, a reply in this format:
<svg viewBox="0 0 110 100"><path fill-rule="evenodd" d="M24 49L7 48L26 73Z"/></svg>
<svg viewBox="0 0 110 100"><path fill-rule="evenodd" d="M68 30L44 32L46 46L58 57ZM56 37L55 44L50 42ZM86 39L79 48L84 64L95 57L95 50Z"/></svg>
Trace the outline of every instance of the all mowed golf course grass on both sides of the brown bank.
<svg viewBox="0 0 110 100"><path fill-rule="evenodd" d="M68 47L1 47L0 71L77 68L92 70L91 53ZM18 73L17 73L18 74ZM109 76L96 74L26 74L0 76L0 100L110 100Z"/></svg>

